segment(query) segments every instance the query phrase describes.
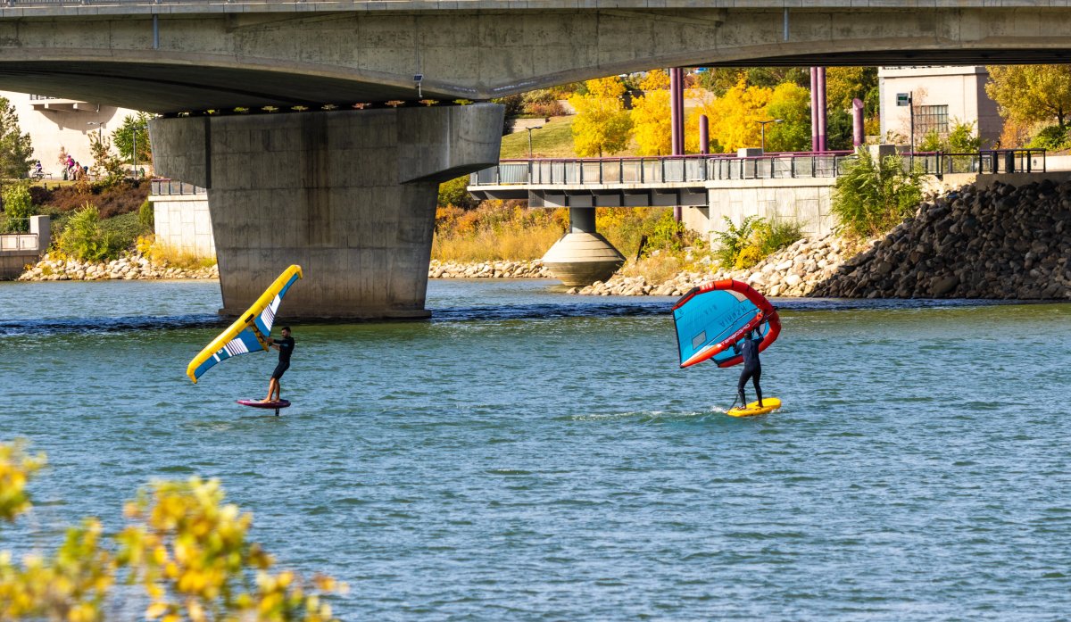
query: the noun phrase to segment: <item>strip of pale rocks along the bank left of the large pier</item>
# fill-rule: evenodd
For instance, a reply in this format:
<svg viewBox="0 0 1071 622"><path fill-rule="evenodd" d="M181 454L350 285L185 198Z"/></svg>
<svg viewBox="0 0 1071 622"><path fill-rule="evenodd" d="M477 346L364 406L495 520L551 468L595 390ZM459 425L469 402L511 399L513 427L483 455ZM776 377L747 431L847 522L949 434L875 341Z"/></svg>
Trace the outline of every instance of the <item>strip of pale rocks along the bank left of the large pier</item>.
<svg viewBox="0 0 1071 622"><path fill-rule="evenodd" d="M138 253L132 253L106 263L70 258L60 259L45 255L41 261L19 275L18 280L160 280L178 278L220 278L220 269L215 264L196 270L157 266Z"/></svg>

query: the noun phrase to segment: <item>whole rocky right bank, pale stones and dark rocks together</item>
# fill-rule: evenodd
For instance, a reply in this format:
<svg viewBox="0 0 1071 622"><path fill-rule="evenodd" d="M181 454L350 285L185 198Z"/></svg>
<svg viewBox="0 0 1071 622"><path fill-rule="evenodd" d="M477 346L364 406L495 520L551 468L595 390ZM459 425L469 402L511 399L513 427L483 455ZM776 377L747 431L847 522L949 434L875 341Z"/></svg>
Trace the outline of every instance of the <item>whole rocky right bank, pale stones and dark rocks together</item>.
<svg viewBox="0 0 1071 622"><path fill-rule="evenodd" d="M962 186L888 234L847 248L800 240L748 270L680 272L663 283L614 275L590 295L682 295L736 278L770 297L1071 300L1071 182Z"/></svg>

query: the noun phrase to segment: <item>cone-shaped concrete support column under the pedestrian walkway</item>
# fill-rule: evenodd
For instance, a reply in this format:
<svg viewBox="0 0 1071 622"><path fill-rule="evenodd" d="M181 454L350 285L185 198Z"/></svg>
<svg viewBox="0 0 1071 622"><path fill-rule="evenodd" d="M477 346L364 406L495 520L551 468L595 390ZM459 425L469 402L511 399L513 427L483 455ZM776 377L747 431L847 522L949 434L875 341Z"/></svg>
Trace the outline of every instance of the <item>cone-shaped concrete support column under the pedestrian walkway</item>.
<svg viewBox="0 0 1071 622"><path fill-rule="evenodd" d="M595 231L594 208L569 208L569 232L543 256L543 264L563 285L605 280L624 263L624 256Z"/></svg>

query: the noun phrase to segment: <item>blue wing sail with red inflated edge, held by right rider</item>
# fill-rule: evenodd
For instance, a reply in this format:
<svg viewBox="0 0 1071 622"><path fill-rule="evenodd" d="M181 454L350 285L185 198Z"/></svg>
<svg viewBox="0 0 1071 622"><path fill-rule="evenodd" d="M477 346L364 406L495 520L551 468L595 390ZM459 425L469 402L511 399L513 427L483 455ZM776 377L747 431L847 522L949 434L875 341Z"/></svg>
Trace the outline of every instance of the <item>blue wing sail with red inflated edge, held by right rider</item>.
<svg viewBox="0 0 1071 622"><path fill-rule="evenodd" d="M733 346L741 344L748 331L763 335L759 351L781 334L781 319L770 301L746 283L733 279L693 288L674 305L673 319L681 367L708 359L719 367L736 365L742 358Z"/></svg>

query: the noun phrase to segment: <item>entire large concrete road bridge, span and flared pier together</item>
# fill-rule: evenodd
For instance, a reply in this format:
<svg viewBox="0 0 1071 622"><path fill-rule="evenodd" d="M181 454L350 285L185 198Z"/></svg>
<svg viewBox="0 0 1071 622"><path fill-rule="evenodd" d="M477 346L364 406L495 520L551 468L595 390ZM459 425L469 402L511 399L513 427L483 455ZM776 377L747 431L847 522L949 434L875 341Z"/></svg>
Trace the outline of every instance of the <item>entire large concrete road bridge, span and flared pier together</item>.
<svg viewBox="0 0 1071 622"><path fill-rule="evenodd" d="M412 317L436 184L497 163L502 112L353 104L660 66L1065 62L1067 4L9 0L0 88L169 117L151 124L156 169L208 188L225 312L300 262L296 315Z"/></svg>

